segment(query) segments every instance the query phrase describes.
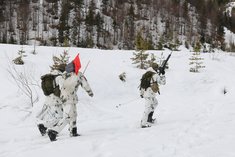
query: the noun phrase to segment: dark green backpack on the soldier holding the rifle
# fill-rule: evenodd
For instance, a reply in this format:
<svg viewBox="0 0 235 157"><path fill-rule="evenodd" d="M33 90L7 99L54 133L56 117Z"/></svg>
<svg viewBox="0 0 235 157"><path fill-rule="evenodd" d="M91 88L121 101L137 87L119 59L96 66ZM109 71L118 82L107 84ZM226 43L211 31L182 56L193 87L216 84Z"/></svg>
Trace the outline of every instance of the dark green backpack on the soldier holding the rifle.
<svg viewBox="0 0 235 157"><path fill-rule="evenodd" d="M153 81L153 75L156 74L152 71L147 71L141 78L140 80L140 88L146 90L148 87L151 87L152 91L154 93L159 92L159 87L158 87L158 83L155 82L151 82Z"/></svg>

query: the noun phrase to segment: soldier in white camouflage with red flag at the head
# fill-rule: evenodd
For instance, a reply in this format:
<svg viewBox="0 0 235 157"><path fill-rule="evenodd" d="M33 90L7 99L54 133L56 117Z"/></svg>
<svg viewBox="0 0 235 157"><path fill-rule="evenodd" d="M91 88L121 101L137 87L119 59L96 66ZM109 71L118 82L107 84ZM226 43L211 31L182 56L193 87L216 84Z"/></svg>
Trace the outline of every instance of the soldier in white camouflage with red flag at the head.
<svg viewBox="0 0 235 157"><path fill-rule="evenodd" d="M77 109L78 103L77 90L79 85L93 97L93 92L87 82L85 76L79 72L81 67L79 56L73 62L66 66L66 75L61 88L61 99L63 102L63 119L61 119L55 126L48 129L48 136L51 141L56 140L56 136L62 129L69 124L70 136L79 136L77 133Z"/></svg>

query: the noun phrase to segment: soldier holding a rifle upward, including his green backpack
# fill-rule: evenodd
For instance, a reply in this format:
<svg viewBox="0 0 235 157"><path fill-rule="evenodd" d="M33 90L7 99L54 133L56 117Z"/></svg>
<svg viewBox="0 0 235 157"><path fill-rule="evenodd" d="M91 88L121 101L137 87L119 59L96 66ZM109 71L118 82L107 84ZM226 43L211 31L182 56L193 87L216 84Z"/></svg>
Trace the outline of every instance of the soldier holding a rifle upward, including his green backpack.
<svg viewBox="0 0 235 157"><path fill-rule="evenodd" d="M156 94L159 92L158 85L165 85L165 71L162 69L158 74L159 68L156 63L148 68L142 76L140 84L140 96L145 99L145 111L141 120L141 127L151 127L154 123L153 113L158 105Z"/></svg>

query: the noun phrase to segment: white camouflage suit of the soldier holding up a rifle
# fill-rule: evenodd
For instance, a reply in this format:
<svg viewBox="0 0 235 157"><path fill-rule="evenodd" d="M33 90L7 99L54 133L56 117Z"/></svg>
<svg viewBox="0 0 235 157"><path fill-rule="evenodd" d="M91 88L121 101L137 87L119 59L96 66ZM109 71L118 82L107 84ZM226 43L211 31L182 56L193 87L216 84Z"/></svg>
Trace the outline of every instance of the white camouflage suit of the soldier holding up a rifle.
<svg viewBox="0 0 235 157"><path fill-rule="evenodd" d="M159 85L165 85L166 84L166 78L165 75L159 75L155 70L153 70L152 67L148 68L147 71L152 71L155 74L152 76L152 82L157 81ZM146 71L146 72L147 72ZM152 83L150 82L150 83ZM156 99L156 93L153 92L151 87L148 87L145 89L140 89L140 95L143 96L145 99L145 111L143 118L141 120L141 127L149 127L152 123L148 122L148 116L151 112L154 112L155 108L158 105L158 101Z"/></svg>

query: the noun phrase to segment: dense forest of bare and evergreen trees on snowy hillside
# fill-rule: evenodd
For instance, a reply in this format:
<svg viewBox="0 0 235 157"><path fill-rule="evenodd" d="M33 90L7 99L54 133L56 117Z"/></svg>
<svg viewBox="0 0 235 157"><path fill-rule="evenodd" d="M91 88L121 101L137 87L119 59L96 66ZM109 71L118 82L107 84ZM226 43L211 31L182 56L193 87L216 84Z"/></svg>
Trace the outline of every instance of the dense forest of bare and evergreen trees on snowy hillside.
<svg viewBox="0 0 235 157"><path fill-rule="evenodd" d="M0 43L100 49L177 50L208 44L226 50L235 32L230 0L1 0ZM229 43L230 50L235 49Z"/></svg>

